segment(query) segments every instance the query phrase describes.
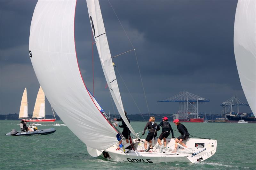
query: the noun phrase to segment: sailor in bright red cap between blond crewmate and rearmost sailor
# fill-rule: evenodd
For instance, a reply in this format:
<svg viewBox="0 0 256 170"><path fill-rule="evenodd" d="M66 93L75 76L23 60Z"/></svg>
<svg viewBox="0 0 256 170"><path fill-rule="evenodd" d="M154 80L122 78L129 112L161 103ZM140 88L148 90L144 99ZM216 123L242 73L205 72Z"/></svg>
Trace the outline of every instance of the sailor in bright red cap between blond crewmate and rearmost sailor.
<svg viewBox="0 0 256 170"><path fill-rule="evenodd" d="M167 121L168 121L168 118L164 117L163 121L160 122L159 125L157 125L157 127L162 126L162 133L157 140L159 146L162 145L161 141L162 141L162 139L164 139L164 147L166 147L166 138L170 135L171 132L172 132L172 137L174 138L172 127L171 127L170 123ZM157 129L157 127L155 127L155 129Z"/></svg>

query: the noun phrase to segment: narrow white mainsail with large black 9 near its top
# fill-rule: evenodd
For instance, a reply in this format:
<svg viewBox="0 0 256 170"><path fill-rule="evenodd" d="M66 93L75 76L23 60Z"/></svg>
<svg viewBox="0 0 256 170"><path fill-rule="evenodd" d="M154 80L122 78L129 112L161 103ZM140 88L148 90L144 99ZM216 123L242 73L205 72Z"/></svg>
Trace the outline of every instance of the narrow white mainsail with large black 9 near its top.
<svg viewBox="0 0 256 170"><path fill-rule="evenodd" d="M86 0L86 3L88 7L89 19L92 25L92 32L94 34L94 40L100 57L100 63L108 84L109 91L125 124L130 129L132 134L137 136L124 114L124 107L116 80L116 74L108 46L108 40L101 15L99 1Z"/></svg>

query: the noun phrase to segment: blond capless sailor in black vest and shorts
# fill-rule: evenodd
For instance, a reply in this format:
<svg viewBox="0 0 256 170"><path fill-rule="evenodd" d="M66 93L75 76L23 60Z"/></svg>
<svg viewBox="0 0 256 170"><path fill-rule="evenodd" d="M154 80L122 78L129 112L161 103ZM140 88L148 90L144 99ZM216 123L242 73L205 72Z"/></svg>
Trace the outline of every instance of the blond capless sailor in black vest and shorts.
<svg viewBox="0 0 256 170"><path fill-rule="evenodd" d="M146 124L146 126L144 128L144 132L142 133L142 135L144 135L146 129L148 128L148 136L146 137L145 142L144 142L145 152L148 152L149 149L153 149L151 139L155 138L157 135L156 131L160 130L159 127L158 127L158 129L154 129L156 126L157 126L157 124L155 123L155 117L150 117L148 123ZM148 142L149 142L149 148L147 149Z"/></svg>

